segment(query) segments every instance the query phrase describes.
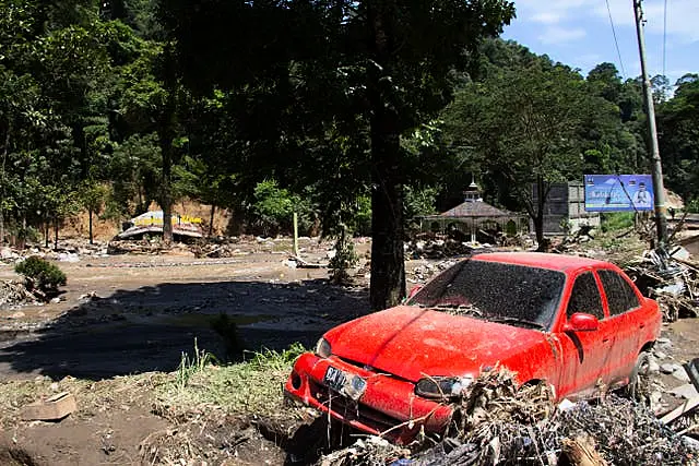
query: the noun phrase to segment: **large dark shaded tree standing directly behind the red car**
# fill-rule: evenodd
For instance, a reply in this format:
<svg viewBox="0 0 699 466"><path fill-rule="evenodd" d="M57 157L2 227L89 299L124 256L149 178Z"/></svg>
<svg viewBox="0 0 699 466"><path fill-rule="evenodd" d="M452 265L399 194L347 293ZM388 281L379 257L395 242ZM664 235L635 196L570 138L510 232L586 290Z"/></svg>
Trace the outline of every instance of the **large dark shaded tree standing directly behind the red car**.
<svg viewBox="0 0 699 466"><path fill-rule="evenodd" d="M265 83L283 97L295 81L315 81L304 73L311 70L348 82L343 91L358 105L336 111L345 120L360 116L370 140L371 307L398 303L405 295L401 135L447 104L452 71L509 23L512 3L163 0L159 11L185 79L198 88ZM327 103L328 95L315 99Z"/></svg>

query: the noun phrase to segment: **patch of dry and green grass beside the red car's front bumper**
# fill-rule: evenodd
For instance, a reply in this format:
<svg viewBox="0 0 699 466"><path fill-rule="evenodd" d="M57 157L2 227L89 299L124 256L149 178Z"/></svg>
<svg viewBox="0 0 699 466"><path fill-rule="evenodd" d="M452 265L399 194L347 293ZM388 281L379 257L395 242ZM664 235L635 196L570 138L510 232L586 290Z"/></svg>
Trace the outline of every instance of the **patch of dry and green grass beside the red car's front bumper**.
<svg viewBox="0 0 699 466"><path fill-rule="evenodd" d="M284 411L282 387L305 350L294 344L283 351L247 351L246 360L229 366L212 365L205 351L199 353L185 369L180 366L171 383L159 387L157 398L171 414L213 406L228 414L279 417Z"/></svg>

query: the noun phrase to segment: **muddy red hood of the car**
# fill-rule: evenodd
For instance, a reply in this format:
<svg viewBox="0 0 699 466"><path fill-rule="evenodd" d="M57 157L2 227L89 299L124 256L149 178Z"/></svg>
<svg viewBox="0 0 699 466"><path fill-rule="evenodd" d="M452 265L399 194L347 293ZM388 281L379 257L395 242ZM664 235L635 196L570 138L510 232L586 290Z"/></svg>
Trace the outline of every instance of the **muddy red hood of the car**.
<svg viewBox="0 0 699 466"><path fill-rule="evenodd" d="M484 366L526 351L544 340L544 335L536 330L398 307L337 326L325 339L341 358L415 382L425 375L475 375Z"/></svg>

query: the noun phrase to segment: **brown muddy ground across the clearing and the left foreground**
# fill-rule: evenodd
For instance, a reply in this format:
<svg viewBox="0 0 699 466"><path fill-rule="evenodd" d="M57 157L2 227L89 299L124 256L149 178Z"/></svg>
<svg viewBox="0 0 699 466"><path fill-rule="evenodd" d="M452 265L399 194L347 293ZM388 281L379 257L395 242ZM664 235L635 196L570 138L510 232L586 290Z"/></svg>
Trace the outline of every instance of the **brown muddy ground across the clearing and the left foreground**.
<svg viewBox="0 0 699 466"><path fill-rule="evenodd" d="M250 419L206 408L200 409L200 423L192 425L163 416L149 394L159 373L177 369L182 351L191 354L194 339L199 348L225 357L225 340L211 327L221 313L237 324L245 347L258 350L295 342L311 346L328 328L369 311L364 272L356 286L334 286L325 268L289 267L285 248L244 248L221 260L119 255L60 263L68 276L61 302L0 312L0 381L32 380L42 390L70 390L79 410L51 423L16 421L17 406L2 408L0 464L168 464L157 445L171 449L192 435L211 446L192 465L292 462L305 440L275 441L279 432L261 435ZM309 246L305 258L327 262L327 248ZM360 254L367 249L358 244ZM410 261L407 268L427 262ZM0 279L8 278L17 277L11 265L0 264ZM667 325L664 335L672 342L665 349L668 360L699 356L695 320ZM137 378L125 377L132 374ZM679 384L670 375L664 381ZM189 434L178 437L183 431ZM183 450L193 447L181 442ZM235 455L222 463L216 451L224 449Z"/></svg>

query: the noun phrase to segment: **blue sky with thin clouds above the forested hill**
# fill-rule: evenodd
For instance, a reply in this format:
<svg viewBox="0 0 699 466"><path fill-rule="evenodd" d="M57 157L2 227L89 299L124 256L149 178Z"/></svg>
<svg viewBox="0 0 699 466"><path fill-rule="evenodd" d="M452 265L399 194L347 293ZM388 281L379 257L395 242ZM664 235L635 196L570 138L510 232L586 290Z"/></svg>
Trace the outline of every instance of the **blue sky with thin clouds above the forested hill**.
<svg viewBox="0 0 699 466"><path fill-rule="evenodd" d="M624 77L640 74L632 0L608 0L621 50ZM548 55L579 68L587 75L595 64L621 65L614 46L605 0L514 0L517 19L505 28L533 52ZM645 45L649 73L663 72L664 0L644 0ZM671 84L685 73L699 73L699 0L667 0L667 48L665 74Z"/></svg>

